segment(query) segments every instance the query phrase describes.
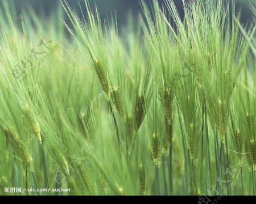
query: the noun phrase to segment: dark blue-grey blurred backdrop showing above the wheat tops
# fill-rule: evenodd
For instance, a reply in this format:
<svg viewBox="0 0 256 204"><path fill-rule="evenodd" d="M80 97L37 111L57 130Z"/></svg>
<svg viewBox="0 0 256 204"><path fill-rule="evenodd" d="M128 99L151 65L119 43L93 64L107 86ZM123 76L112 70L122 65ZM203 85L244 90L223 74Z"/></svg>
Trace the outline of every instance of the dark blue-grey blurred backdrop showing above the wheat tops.
<svg viewBox="0 0 256 204"><path fill-rule="evenodd" d="M14 3L18 13L21 13L22 10L26 9L29 5L36 11L36 14L51 14L56 11L57 5L60 5L59 0L0 0L0 1L9 1ZM81 5L83 6L84 0L80 0ZM151 0L144 0L145 2L150 2ZM187 0L191 1L191 0ZM213 0L214 1L214 0ZM230 0L232 1L232 0ZM236 2L237 9L242 9L242 22L247 22L248 19L252 18L250 10L250 2L255 2L256 0L233 0ZM162 0L159 2L163 3ZM182 1L174 0L180 15L183 15L182 12ZM70 5L73 5L77 10L79 10L79 1L78 0L68 0ZM105 18L106 15L111 14L112 11L117 11L118 23L123 24L126 22L126 14L128 11L132 11L135 16L138 16L138 13L141 12L141 7L139 5L139 0L89 0L91 5L94 3L97 4L102 18Z"/></svg>

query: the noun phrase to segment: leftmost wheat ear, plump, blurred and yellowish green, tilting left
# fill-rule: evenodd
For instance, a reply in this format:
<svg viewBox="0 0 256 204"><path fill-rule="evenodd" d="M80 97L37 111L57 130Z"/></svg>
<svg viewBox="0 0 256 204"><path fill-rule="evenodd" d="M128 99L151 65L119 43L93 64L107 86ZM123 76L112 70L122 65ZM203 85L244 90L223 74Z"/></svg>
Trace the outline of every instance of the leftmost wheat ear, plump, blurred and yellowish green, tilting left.
<svg viewBox="0 0 256 204"><path fill-rule="evenodd" d="M10 141L13 146L14 152L20 159L32 170L32 156L28 152L27 146L19 138L18 134L15 132L14 128L7 126L3 130L5 132L6 138Z"/></svg>

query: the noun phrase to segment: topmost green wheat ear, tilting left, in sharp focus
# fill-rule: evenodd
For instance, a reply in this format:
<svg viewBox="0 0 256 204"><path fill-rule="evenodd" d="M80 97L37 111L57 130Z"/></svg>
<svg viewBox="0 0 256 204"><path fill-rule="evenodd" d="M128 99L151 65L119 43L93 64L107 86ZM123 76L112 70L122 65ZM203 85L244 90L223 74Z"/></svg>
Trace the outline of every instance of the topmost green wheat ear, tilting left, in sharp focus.
<svg viewBox="0 0 256 204"><path fill-rule="evenodd" d="M110 99L110 87L109 87L108 76L106 75L104 68L102 68L102 64L100 63L100 60L94 60L93 65L94 65L94 72L96 73L98 81L101 84L101 88L105 92L106 97L109 100Z"/></svg>

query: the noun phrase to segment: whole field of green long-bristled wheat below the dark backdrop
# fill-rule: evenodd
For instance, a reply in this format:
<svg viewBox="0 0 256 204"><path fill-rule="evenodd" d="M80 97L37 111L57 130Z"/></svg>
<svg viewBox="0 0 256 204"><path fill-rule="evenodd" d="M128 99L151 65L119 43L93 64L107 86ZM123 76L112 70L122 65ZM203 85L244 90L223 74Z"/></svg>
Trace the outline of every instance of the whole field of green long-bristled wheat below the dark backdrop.
<svg viewBox="0 0 256 204"><path fill-rule="evenodd" d="M2 1L0 194L255 195L255 19L233 1L183 0L182 19L141 1L120 28L84 3L39 18ZM44 36L58 48L18 80Z"/></svg>

